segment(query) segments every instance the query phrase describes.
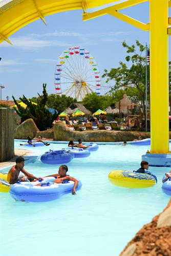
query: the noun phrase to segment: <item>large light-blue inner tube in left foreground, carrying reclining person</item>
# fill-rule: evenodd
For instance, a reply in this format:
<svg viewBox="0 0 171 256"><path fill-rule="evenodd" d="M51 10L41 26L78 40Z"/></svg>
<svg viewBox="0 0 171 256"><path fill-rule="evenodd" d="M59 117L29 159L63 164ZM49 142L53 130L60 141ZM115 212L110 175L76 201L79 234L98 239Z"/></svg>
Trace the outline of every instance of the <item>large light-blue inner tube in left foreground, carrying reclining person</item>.
<svg viewBox="0 0 171 256"><path fill-rule="evenodd" d="M15 183L11 186L10 195L17 201L49 202L65 194L72 193L73 181L55 184L52 183L54 180L54 177L44 178L44 181L41 182L42 186L35 186L40 181ZM75 190L79 190L81 186L82 184L79 181Z"/></svg>

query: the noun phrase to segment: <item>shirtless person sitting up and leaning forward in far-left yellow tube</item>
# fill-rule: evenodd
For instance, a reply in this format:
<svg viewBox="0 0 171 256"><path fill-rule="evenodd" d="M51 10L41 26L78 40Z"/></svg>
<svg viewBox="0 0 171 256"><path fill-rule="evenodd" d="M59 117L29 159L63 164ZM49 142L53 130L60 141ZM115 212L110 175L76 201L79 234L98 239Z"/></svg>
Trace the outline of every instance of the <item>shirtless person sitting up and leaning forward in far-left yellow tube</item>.
<svg viewBox="0 0 171 256"><path fill-rule="evenodd" d="M16 183L19 181L33 181L33 180L42 180L42 178L37 178L33 174L28 173L23 167L25 165L25 159L23 157L17 157L16 165L12 166L12 168L8 172L7 180L10 184ZM23 175L19 173L22 172Z"/></svg>

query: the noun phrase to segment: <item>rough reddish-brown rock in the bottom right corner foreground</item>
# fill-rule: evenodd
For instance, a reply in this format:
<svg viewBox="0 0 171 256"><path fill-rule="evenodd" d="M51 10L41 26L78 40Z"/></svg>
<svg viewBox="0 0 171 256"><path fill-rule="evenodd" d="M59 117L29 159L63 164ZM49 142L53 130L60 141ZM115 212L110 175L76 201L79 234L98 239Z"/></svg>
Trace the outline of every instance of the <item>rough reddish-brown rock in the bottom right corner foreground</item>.
<svg viewBox="0 0 171 256"><path fill-rule="evenodd" d="M163 212L144 225L120 256L171 255L171 199Z"/></svg>

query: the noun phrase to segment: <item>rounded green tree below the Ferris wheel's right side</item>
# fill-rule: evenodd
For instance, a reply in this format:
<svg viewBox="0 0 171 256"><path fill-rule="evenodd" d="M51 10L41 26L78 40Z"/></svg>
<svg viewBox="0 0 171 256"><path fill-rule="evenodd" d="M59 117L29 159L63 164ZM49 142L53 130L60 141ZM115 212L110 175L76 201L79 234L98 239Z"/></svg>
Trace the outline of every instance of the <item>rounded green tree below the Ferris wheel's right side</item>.
<svg viewBox="0 0 171 256"><path fill-rule="evenodd" d="M92 113L96 110L104 110L113 102L110 95L97 95L97 93L87 94L82 100L82 104L89 109Z"/></svg>

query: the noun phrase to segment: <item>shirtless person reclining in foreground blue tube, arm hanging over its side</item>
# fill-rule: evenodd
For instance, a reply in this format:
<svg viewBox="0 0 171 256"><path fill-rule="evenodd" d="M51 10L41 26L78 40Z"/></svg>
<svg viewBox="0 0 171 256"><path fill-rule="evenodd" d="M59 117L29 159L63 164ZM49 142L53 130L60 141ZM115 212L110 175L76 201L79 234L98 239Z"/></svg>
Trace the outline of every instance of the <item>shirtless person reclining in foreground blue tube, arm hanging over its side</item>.
<svg viewBox="0 0 171 256"><path fill-rule="evenodd" d="M68 167L65 164L62 164L59 166L59 170L57 174L51 174L46 177L55 177L56 180L53 181L53 183L62 183L65 180L71 180L74 182L74 186L72 189L72 195L76 195L75 188L78 186L78 180L67 175ZM41 186L41 183L37 184L37 186Z"/></svg>

